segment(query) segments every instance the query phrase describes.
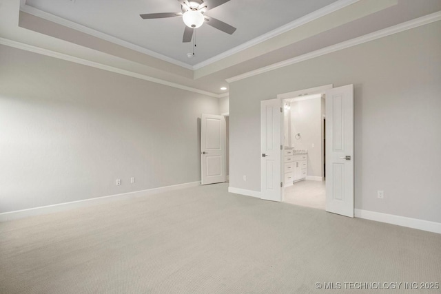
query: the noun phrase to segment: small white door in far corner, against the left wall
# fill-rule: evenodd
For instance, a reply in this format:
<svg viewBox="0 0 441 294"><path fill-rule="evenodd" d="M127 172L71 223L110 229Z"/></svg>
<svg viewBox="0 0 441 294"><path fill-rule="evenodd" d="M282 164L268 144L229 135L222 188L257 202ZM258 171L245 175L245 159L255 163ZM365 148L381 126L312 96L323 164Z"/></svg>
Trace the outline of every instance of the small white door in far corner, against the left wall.
<svg viewBox="0 0 441 294"><path fill-rule="evenodd" d="M202 114L201 118L201 184L225 182L226 176L225 117Z"/></svg>

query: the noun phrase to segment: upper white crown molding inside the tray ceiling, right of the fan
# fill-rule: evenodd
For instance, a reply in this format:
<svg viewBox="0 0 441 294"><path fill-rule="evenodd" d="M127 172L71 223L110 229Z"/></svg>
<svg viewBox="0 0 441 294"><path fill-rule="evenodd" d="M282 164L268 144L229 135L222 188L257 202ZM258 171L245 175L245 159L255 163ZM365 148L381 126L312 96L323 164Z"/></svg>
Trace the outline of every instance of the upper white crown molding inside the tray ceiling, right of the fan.
<svg viewBox="0 0 441 294"><path fill-rule="evenodd" d="M282 25L281 27L276 28L275 30L271 30L271 32L267 32L266 34L258 36L257 38L254 38L251 41L247 41L247 42L240 44L230 50L227 50L221 54L218 54L210 59L206 59L205 61L197 63L196 65L193 65L193 68L194 68L194 70L198 70L202 67L210 65L212 63L215 63L216 61L220 61L222 59L225 59L228 56L232 56L233 54L236 54L240 51L243 51L247 48L250 48L254 45L257 45L258 43L262 43L262 42L267 41L271 38L274 38L275 36L278 36L279 34L283 34L285 32L288 32L289 30L293 30L294 28L298 28L300 25L305 25L305 23L309 23L311 21L319 19L320 17L324 17L327 14L330 14L332 12L335 12L337 10L345 8L346 6L349 6L349 5L356 3L358 1L360 1L360 0L339 0L334 3L331 3L328 6L325 6L323 8L320 8L319 10L316 10L314 12L311 12L311 13L305 15L304 17L300 17L300 19L296 19L295 21L291 21L290 23L287 23L286 25Z"/></svg>

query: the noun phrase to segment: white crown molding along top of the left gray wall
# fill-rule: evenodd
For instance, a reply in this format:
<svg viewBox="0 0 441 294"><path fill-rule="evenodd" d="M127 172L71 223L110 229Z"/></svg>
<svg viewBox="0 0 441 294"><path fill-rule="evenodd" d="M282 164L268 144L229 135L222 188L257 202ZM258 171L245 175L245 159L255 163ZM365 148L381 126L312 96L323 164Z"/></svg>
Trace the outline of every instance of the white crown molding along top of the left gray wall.
<svg viewBox="0 0 441 294"><path fill-rule="evenodd" d="M75 57L75 56L70 56L68 54L63 54L60 52L55 52L52 50L48 50L48 49L44 49L44 48L39 48L33 45L28 45L25 43L20 43L17 41L12 41L10 39L4 39L0 37L0 44L1 45L6 45L6 46L10 46L13 48L18 48L21 50L26 50L29 52L34 52L34 53L38 53L38 54L42 54L45 56L51 56L57 59L63 59L65 61L71 61L74 63L79 63L82 65L88 65L91 67L95 67L95 68L99 68L100 70L107 70L108 72L116 72L117 74L124 74L125 76L132 76L133 78L141 78L141 80L145 80L145 81L149 81L152 83L158 83L161 85L166 85L169 87L175 87L181 90L185 90L185 91L189 91L189 92L195 92L198 94L203 94L203 95L207 95L207 96L211 96L211 97L215 97L215 98L219 98L218 94L214 94L212 92L207 92L204 90L199 90L196 89L194 87L187 87L185 85L180 85L178 83L172 83L170 81L165 81L165 80L161 80L160 78L154 78L152 76L147 76L145 74L139 74L137 72L130 72L129 70L122 70L121 68L117 68L117 67L113 67L110 65L104 65L102 63L97 63L94 61L89 61L86 59L81 59L79 57Z"/></svg>

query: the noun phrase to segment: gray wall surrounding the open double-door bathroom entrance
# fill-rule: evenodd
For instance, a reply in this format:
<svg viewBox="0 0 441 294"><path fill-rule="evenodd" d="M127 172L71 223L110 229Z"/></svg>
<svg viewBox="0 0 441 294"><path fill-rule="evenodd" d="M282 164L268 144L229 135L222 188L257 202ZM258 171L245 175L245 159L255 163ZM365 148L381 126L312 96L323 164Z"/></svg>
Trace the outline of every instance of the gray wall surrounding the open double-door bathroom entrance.
<svg viewBox="0 0 441 294"><path fill-rule="evenodd" d="M230 186L260 191L260 101L353 84L356 208L441 222L440 36L438 21L231 83Z"/></svg>

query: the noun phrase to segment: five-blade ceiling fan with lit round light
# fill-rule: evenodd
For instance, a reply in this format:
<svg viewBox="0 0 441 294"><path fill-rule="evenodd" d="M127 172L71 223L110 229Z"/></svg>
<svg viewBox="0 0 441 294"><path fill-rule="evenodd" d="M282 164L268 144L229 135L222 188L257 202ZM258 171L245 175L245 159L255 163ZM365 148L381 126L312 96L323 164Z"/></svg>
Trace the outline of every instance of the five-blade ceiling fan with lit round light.
<svg viewBox="0 0 441 294"><path fill-rule="evenodd" d="M166 17L182 17L185 23L184 36L182 41L188 43L192 41L194 29L199 28L204 22L213 28L233 34L236 31L232 25L219 21L214 17L205 15L210 9L222 5L229 0L178 0L181 3L182 12L147 13L139 14L142 19L163 19Z"/></svg>

